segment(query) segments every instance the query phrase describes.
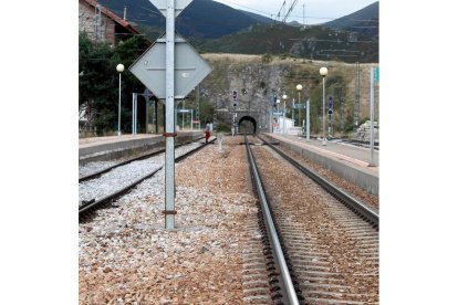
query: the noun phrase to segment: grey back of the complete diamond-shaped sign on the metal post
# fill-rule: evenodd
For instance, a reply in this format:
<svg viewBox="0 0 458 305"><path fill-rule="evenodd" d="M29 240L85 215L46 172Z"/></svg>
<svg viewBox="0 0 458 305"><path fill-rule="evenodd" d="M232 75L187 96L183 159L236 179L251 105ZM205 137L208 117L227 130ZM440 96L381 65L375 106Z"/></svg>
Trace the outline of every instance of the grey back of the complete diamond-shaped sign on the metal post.
<svg viewBox="0 0 458 305"><path fill-rule="evenodd" d="M156 97L166 98L166 41L163 34L128 69ZM175 35L175 98L184 98L211 66L180 35Z"/></svg>

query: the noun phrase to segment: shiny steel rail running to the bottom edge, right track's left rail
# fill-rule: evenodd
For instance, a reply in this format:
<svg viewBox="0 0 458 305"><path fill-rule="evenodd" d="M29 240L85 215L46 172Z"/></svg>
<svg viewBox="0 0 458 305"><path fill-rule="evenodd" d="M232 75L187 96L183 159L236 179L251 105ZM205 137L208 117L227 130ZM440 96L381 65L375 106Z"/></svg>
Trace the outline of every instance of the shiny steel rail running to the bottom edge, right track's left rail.
<svg viewBox="0 0 458 305"><path fill-rule="evenodd" d="M271 244L272 244L273 255L275 257L278 267L281 273L281 280L282 280L282 283L283 283L283 286L287 293L287 297L289 301L288 304L299 304L298 295L295 294L295 288L291 280L290 271L288 269L288 264L283 255L283 250L281 248L279 236L277 234L273 219L272 219L272 215L269 209L269 203L268 203L268 200L264 193L264 189L262 187L261 178L259 177L258 167L256 165L256 160L251 152L250 145L248 144L247 135L244 135L244 141L246 141L246 148L247 148L247 155L249 158L251 175L253 177L253 181L254 181L256 189L258 192L258 198L261 203L262 215L263 215L264 223L267 227L269 240L271 241Z"/></svg>

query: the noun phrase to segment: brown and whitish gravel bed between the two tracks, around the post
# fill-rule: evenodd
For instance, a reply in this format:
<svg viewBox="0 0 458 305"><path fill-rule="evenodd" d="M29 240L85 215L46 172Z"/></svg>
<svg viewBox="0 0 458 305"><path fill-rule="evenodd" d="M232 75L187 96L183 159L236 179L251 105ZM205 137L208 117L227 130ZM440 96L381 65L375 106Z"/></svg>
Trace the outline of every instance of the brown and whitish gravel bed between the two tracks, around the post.
<svg viewBox="0 0 458 305"><path fill-rule="evenodd" d="M176 165L176 229L165 230L164 170L80 223L80 304L242 304L244 243L258 242L240 138ZM260 251L261 252L261 251Z"/></svg>

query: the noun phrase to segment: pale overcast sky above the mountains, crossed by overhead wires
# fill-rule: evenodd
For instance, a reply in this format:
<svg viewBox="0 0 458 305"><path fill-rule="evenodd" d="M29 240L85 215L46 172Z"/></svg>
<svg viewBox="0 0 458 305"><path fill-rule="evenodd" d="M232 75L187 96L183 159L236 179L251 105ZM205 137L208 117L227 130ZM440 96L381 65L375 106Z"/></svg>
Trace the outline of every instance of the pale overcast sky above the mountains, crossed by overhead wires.
<svg viewBox="0 0 458 305"><path fill-rule="evenodd" d="M223 3L235 9L244 10L253 13L258 13L264 17L273 15L275 19L283 2L285 1L285 10L281 11L281 15L288 12L293 0L215 0L216 2ZM306 24L316 24L327 22L355 11L358 11L376 0L300 0L295 4L293 11L288 18L287 22L296 20L303 22L303 15L305 15ZM305 8L303 7L305 4ZM303 10L305 9L305 10ZM303 13L305 11L305 14Z"/></svg>

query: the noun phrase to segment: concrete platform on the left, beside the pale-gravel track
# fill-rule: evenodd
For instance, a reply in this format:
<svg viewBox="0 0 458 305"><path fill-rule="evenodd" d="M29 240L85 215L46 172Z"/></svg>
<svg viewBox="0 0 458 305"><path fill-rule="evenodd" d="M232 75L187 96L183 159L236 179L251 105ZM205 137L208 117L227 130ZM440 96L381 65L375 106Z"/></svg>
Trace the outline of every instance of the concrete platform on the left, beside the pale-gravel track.
<svg viewBox="0 0 458 305"><path fill-rule="evenodd" d="M201 130L178 132L176 144L190 141L204 136ZM106 161L133 154L165 147L163 135L121 135L80 139L80 165L91 161Z"/></svg>

